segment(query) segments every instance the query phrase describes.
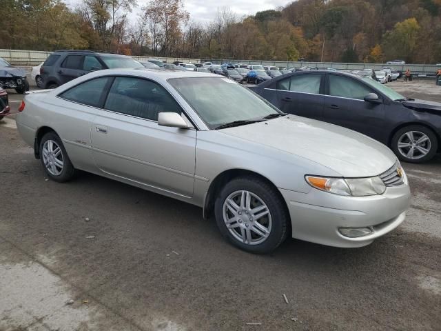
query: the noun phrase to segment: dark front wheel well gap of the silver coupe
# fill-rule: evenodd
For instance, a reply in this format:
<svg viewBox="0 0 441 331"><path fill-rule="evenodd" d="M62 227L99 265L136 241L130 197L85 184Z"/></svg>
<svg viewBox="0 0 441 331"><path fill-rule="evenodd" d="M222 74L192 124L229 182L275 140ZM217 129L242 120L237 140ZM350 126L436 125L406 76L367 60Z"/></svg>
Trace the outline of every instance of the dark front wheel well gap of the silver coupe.
<svg viewBox="0 0 441 331"><path fill-rule="evenodd" d="M250 170L244 170L244 169L231 169L231 170L226 170L226 171L218 174L218 176L212 181L212 184L209 186L207 196L205 197L205 204L204 204L204 208L203 208L203 217L205 219L208 219L209 217L212 216L213 209L214 209L214 202L216 201L216 197L218 197L218 194L219 194L220 190L223 188L223 186L227 182L232 181L232 179L235 179L237 177L243 177L243 176L256 177L258 179L261 179L261 180L267 182L269 185L271 185L276 190L279 199L281 199L281 201L283 201L283 205L285 206L287 215L289 217L289 210L288 210L288 206L285 202L285 199L283 199L282 194L278 190L277 186L274 185L274 183L269 181L269 179L262 176L261 174L258 174L257 172L253 172ZM291 231L291 222L288 222L288 223L289 223L288 224L289 231Z"/></svg>

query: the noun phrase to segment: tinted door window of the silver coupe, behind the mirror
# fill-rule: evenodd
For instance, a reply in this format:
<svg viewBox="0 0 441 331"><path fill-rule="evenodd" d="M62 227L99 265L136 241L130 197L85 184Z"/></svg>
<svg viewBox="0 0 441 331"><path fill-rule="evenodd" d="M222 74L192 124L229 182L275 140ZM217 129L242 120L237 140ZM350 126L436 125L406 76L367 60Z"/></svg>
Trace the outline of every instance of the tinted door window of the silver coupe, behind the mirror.
<svg viewBox="0 0 441 331"><path fill-rule="evenodd" d="M160 112L182 112L165 88L153 81L134 77L116 77L104 108L153 121L158 120Z"/></svg>

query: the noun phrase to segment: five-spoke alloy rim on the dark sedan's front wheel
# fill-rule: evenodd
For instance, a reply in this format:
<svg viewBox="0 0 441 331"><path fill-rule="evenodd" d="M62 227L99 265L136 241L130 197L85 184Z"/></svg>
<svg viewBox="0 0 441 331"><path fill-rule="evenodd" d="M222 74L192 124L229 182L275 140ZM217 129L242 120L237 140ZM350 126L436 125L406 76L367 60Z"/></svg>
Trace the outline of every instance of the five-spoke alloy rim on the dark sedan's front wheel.
<svg viewBox="0 0 441 331"><path fill-rule="evenodd" d="M398 139L398 151L407 159L416 160L425 157L431 150L431 141L427 134L420 131L405 132Z"/></svg>

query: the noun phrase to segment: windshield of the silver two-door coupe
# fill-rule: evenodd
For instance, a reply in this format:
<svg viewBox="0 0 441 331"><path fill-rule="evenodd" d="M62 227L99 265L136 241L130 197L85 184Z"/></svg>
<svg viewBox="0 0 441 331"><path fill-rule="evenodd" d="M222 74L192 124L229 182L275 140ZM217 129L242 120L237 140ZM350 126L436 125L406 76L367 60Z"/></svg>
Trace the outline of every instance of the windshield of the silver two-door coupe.
<svg viewBox="0 0 441 331"><path fill-rule="evenodd" d="M271 103L231 79L186 77L169 79L168 82L210 129L233 121L261 119L279 113Z"/></svg>

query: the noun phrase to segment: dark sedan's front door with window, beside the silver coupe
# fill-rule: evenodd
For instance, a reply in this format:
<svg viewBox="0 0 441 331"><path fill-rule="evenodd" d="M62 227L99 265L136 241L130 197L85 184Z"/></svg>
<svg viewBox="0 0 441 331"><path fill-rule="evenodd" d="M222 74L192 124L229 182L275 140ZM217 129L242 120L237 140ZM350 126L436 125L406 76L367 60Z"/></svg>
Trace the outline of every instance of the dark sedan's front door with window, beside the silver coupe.
<svg viewBox="0 0 441 331"><path fill-rule="evenodd" d="M327 74L325 84L323 121L381 140L384 104L364 100L367 94L376 91L358 79L341 74Z"/></svg>

